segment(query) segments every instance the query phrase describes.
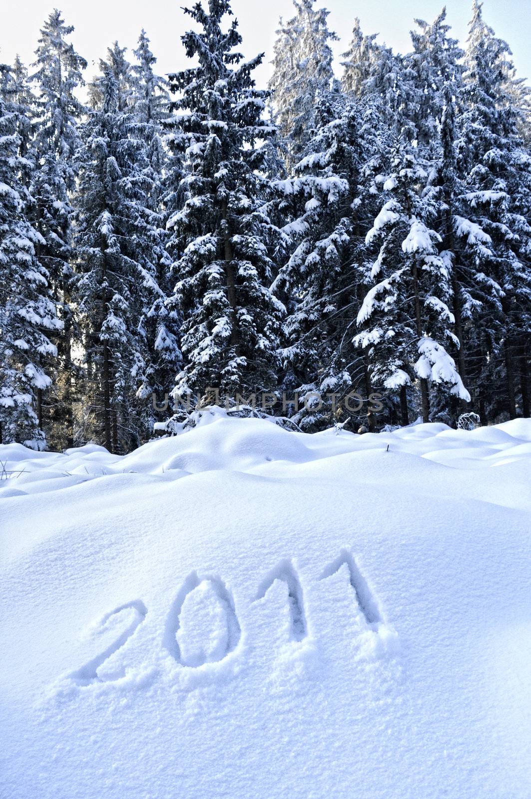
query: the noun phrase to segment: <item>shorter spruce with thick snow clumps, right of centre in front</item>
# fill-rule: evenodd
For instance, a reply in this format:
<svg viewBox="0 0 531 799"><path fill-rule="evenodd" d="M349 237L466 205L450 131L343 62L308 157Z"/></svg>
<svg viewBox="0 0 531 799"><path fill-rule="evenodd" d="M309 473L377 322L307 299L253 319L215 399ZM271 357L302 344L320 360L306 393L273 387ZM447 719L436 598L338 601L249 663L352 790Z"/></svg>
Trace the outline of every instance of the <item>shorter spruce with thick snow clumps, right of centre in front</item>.
<svg viewBox="0 0 531 799"><path fill-rule="evenodd" d="M407 137L398 139L392 167L366 237L375 256L373 285L357 316L362 331L355 343L369 354L372 384L401 392L403 422L405 386L418 381L421 415L428 422L430 388L469 400L447 351L455 342L448 307L451 261L439 254L441 237L431 226L437 203L423 190L428 175Z"/></svg>

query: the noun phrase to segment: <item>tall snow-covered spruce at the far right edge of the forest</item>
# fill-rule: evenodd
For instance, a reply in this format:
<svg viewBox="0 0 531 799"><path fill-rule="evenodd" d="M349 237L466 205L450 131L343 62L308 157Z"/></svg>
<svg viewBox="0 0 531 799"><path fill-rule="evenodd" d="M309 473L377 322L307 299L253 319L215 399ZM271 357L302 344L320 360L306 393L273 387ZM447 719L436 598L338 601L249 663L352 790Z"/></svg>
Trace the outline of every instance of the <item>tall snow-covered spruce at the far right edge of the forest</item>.
<svg viewBox="0 0 531 799"><path fill-rule="evenodd" d="M507 75L513 73L509 56L509 46L485 24L481 2L474 0L459 167L466 229L473 225L489 237L489 246L473 252L472 268L493 301L483 304L469 344L476 353L474 379L484 419L504 411L513 418L518 402L529 414L531 158L518 132L520 110L507 90Z"/></svg>

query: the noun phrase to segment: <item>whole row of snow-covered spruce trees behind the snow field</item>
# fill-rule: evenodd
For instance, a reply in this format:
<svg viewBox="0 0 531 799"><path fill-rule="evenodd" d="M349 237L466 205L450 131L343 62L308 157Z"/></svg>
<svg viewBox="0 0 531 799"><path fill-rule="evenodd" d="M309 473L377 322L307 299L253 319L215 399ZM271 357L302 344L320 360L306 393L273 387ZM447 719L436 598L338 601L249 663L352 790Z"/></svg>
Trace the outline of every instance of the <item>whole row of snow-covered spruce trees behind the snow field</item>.
<svg viewBox="0 0 531 799"><path fill-rule="evenodd" d="M230 0L186 9L190 67L166 78L142 30L87 94L58 10L30 70L0 65L2 443L130 451L165 418L153 397L214 388L297 395L304 431L529 417L531 106L509 46L473 0L464 50L445 10L405 55L356 20L334 72L328 12L293 6L269 89ZM349 392L383 410L348 419Z"/></svg>

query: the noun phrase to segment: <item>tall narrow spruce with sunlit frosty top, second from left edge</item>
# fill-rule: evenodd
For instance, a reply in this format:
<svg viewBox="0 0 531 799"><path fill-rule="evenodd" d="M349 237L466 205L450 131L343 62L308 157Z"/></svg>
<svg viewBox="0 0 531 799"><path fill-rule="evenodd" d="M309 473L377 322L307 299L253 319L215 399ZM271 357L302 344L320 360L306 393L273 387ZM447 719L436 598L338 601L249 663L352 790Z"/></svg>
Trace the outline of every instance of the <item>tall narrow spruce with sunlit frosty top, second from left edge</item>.
<svg viewBox="0 0 531 799"><path fill-rule="evenodd" d="M46 394L46 427L50 443L57 449L74 443L74 372L72 344L73 312L70 305L74 252L70 195L76 185L75 154L81 140L79 122L82 103L75 90L84 85L86 61L67 39L74 30L56 9L44 23L36 50L32 76L38 90L35 121L35 169L31 181L34 225L43 238L38 258L50 274L54 298L64 323L57 338L58 359L54 381Z"/></svg>

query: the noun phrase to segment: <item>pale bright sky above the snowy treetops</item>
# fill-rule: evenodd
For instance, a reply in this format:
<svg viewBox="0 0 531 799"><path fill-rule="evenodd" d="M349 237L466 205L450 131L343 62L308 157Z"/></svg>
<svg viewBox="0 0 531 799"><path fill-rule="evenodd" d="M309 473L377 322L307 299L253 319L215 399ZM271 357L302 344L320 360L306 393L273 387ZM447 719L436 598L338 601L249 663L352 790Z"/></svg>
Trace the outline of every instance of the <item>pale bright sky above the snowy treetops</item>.
<svg viewBox="0 0 531 799"><path fill-rule="evenodd" d="M54 6L75 26L72 42L78 53L89 62L86 78L93 77L98 59L105 57L106 47L115 39L120 45L133 49L142 27L151 39L151 49L158 58L158 73L166 74L184 66L186 57L180 37L190 27L181 6L186 0L0 0L0 63L13 61L16 53L22 61L33 61L38 30ZM361 19L364 33L379 33L380 41L394 50L409 50L409 30L415 18L431 22L444 0L323 0L319 6L329 11L329 26L341 41L334 47L336 56L346 50L353 19ZM471 16L470 0L446 0L448 21L453 35L464 44L467 23ZM278 18L293 16L291 0L234 0L234 13L240 22L242 50L246 57L265 51L265 64L257 70L260 88L270 74L269 61ZM509 42L514 63L521 78L531 79L531 50L529 34L531 0L485 0L484 17L497 36ZM130 54L131 58L132 55ZM341 73L339 58L336 71Z"/></svg>

